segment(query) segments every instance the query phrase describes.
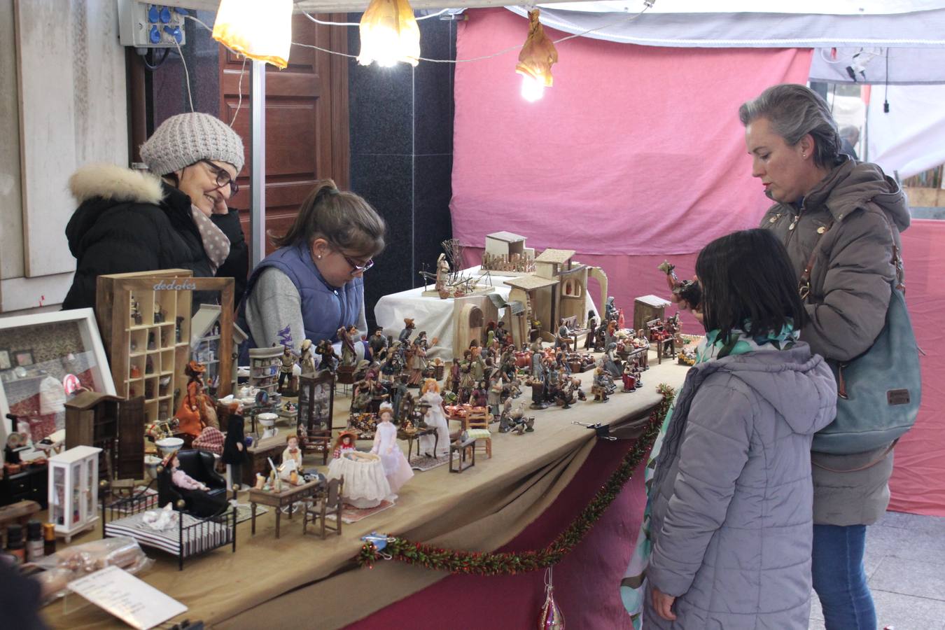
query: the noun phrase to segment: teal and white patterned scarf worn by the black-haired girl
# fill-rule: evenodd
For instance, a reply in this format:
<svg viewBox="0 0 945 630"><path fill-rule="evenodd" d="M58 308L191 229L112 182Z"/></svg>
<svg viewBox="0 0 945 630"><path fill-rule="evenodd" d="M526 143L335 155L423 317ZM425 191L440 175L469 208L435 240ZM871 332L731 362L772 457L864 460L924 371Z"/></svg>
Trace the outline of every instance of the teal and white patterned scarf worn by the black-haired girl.
<svg viewBox="0 0 945 630"><path fill-rule="evenodd" d="M727 356L745 354L746 352L778 351L794 348L798 341L799 331L794 330L793 322L788 319L781 331L777 333L768 332L767 334L752 335L751 322L746 321L744 330L733 329L725 337L721 336L718 330L706 333L702 341L696 347L696 364L716 361ZM640 630L643 626L643 608L644 608L644 578L646 577L646 566L649 564L650 554L653 553L653 542L650 539L650 490L653 485L653 473L656 470L656 460L662 450L662 440L666 435L666 428L673 418L673 411L676 409L676 402L669 408L663 419L660 434L653 443L653 449L650 451L649 459L646 461L644 469L644 485L646 487L646 507L644 508L644 519L640 525L640 533L637 535L637 546L630 557L630 564L627 566L627 572L620 583L620 597L624 602L624 607L633 621L634 630Z"/></svg>

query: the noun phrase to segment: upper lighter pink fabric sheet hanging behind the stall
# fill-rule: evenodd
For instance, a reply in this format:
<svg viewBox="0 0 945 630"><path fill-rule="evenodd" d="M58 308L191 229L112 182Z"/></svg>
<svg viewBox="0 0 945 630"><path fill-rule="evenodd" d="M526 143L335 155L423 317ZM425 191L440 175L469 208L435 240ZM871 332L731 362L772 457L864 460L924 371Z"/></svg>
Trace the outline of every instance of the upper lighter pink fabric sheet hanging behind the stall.
<svg viewBox="0 0 945 630"><path fill-rule="evenodd" d="M524 18L468 13L457 59L524 42ZM663 256L756 224L767 200L737 109L769 85L806 81L810 50L578 38L558 57L555 87L535 103L519 93L515 52L456 65L451 208L463 245L510 230L542 249Z"/></svg>

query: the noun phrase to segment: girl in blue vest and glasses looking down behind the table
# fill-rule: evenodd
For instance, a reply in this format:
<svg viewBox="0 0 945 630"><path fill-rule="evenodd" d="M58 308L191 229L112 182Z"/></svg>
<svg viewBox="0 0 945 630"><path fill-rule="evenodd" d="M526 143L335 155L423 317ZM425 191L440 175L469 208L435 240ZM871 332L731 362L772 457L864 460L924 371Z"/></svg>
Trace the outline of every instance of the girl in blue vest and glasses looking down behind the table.
<svg viewBox="0 0 945 630"><path fill-rule="evenodd" d="M367 333L364 273L384 249L384 219L331 179L316 182L291 228L274 239L278 250L253 269L238 322L247 348L282 344L298 350L305 339L332 343L337 332ZM364 343L355 344L364 356Z"/></svg>

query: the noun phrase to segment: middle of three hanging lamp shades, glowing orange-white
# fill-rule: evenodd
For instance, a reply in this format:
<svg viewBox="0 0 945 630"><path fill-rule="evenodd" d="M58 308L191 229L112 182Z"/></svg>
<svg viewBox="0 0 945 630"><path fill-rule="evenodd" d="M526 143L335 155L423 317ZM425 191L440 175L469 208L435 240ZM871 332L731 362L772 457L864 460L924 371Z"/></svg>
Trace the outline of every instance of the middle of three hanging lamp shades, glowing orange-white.
<svg viewBox="0 0 945 630"><path fill-rule="evenodd" d="M417 65L420 26L407 0L371 0L361 16L361 53L357 61L392 66L398 61Z"/></svg>

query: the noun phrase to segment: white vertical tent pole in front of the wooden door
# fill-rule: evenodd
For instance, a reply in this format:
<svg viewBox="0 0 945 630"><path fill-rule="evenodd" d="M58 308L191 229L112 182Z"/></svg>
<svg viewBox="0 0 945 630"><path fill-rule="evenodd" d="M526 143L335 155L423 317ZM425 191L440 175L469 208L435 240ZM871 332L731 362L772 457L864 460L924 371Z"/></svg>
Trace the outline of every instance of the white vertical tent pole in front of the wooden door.
<svg viewBox="0 0 945 630"><path fill-rule="evenodd" d="M249 254L255 268L266 256L266 62L252 61L249 92L250 166Z"/></svg>

